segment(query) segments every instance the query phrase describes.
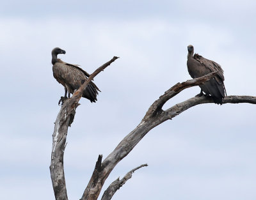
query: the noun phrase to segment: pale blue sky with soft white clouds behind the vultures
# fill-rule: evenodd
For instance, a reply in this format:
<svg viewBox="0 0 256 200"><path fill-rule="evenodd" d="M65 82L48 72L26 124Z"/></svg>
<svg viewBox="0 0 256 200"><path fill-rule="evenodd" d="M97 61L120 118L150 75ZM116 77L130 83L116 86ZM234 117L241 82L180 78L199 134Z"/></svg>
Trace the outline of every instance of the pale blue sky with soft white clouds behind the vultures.
<svg viewBox="0 0 256 200"><path fill-rule="evenodd" d="M82 99L64 156L69 199L81 198L106 158L148 107L190 79L187 46L219 63L228 95L256 96L256 1L5 1L0 8L0 199L54 199L52 132L64 95L51 50L95 77L98 102ZM164 109L195 96L182 91ZM116 165L102 192L141 164L113 197L255 200L256 106L204 104L154 128ZM100 194L100 197L102 194ZM99 197L99 199L100 199Z"/></svg>

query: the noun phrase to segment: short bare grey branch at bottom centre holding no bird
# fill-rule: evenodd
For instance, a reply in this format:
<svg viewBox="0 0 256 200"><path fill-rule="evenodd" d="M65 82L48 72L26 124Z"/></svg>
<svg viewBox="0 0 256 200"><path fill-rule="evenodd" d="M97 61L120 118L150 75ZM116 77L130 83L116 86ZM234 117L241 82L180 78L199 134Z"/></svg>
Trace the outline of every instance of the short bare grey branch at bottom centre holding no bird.
<svg viewBox="0 0 256 200"><path fill-rule="evenodd" d="M113 183L111 183L111 185L109 185L109 187L105 190L101 200L112 199L116 190L119 190L119 188L122 187L127 180L132 178L132 173L134 173L134 171L136 171L137 169L140 169L141 167L146 167L146 166L147 166L147 164L140 165L139 167L136 167L136 168L132 169L131 171L129 171L127 174L125 174L124 178L122 178L121 180L119 180L119 178L117 178L115 181L113 181Z"/></svg>

